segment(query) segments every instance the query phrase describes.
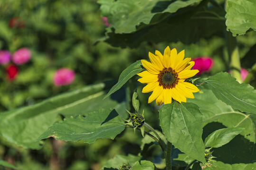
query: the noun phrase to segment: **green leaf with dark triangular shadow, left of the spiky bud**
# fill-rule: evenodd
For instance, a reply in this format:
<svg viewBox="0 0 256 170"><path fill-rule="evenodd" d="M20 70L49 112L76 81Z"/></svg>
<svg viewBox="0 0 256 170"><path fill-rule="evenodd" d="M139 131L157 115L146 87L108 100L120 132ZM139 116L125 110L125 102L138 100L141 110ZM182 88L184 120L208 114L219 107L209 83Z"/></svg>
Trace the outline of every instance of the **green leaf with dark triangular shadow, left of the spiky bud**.
<svg viewBox="0 0 256 170"><path fill-rule="evenodd" d="M38 140L54 137L57 140L79 141L91 144L99 138L110 138L120 134L125 128L123 119L115 110L100 109L86 117L66 118L49 127Z"/></svg>

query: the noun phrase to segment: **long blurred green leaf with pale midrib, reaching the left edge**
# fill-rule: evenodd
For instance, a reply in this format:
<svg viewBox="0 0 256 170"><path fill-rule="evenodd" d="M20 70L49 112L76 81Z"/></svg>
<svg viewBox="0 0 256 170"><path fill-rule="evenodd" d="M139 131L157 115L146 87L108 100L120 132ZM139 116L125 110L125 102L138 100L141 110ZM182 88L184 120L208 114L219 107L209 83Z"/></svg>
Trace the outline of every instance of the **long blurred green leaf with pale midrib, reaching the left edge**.
<svg viewBox="0 0 256 170"><path fill-rule="evenodd" d="M88 85L32 106L3 112L0 114L0 134L11 143L39 149L42 142L35 142L36 139L57 121L58 114L69 117L101 108L116 108L119 114L124 115L125 94L122 91L102 102L105 90L111 85L113 83Z"/></svg>

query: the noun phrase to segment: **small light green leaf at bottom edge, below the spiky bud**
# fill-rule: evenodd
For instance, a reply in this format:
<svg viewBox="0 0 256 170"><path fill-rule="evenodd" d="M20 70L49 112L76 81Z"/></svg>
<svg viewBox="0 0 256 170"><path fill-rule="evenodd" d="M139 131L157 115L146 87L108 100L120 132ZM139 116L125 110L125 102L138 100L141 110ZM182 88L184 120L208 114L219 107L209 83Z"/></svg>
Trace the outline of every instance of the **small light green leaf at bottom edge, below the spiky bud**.
<svg viewBox="0 0 256 170"><path fill-rule="evenodd" d="M140 161L141 157L139 156L134 156L132 154L129 154L128 156L123 156L123 155L115 155L113 159L108 160L104 163L105 168L116 168L119 170L118 166L122 166L123 163L129 164L131 166L134 165L136 161Z"/></svg>

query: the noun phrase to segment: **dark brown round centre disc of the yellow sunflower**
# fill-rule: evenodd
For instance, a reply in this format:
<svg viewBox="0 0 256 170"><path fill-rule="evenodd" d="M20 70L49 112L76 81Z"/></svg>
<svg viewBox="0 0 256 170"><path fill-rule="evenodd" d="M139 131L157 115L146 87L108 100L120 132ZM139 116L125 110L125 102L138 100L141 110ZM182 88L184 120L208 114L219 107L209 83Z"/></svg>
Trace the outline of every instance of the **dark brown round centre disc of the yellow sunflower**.
<svg viewBox="0 0 256 170"><path fill-rule="evenodd" d="M174 88L179 82L178 73L172 68L163 68L158 74L158 82L163 89Z"/></svg>

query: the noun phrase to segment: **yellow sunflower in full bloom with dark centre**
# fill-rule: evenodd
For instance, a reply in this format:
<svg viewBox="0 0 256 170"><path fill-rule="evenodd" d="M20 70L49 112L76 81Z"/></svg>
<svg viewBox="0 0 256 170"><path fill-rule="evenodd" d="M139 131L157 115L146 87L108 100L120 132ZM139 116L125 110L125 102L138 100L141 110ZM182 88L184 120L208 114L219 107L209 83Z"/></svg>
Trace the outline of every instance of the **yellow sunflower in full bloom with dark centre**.
<svg viewBox="0 0 256 170"><path fill-rule="evenodd" d="M155 51L155 55L149 52L151 62L141 60L142 66L147 69L138 73L142 78L138 79L141 83L147 83L142 89L142 93L152 92L149 103L156 100L157 105L171 103L174 99L178 102L187 102L187 98L193 99L193 93L199 89L185 82L187 78L195 76L199 70L191 70L195 62L191 58L184 59L184 50L177 54L177 50L166 47L163 55Z"/></svg>

